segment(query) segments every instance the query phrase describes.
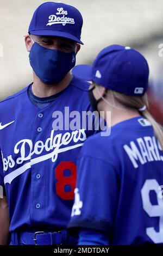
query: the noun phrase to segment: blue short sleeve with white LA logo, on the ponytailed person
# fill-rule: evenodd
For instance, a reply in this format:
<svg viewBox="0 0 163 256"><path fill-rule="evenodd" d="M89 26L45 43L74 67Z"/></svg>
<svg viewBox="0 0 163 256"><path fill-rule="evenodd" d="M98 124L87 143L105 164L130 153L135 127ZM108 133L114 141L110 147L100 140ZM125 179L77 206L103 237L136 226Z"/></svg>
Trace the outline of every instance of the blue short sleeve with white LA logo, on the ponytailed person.
<svg viewBox="0 0 163 256"><path fill-rule="evenodd" d="M115 169L107 161L85 155L80 156L77 167L77 188L68 228L72 233L79 228L93 228L109 235L118 201Z"/></svg>

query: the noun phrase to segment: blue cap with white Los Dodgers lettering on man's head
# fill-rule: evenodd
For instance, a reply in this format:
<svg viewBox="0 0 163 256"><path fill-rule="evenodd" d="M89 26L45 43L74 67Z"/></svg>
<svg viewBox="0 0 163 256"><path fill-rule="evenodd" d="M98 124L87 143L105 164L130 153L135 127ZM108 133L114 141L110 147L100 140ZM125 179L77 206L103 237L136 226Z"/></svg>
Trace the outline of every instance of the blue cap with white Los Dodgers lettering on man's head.
<svg viewBox="0 0 163 256"><path fill-rule="evenodd" d="M28 33L33 35L52 35L79 42L83 18L80 12L71 5L46 2L34 12Z"/></svg>

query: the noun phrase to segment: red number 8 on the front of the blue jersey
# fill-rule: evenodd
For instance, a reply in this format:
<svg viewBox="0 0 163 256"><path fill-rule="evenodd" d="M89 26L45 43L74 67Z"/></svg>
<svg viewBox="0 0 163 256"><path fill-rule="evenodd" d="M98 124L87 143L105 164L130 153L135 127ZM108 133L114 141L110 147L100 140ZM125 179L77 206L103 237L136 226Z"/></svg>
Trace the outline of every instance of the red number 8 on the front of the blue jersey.
<svg viewBox="0 0 163 256"><path fill-rule="evenodd" d="M70 176L65 176L64 171L69 169ZM61 199L72 200L74 199L74 189L76 187L77 180L77 166L73 162L61 162L55 169L55 177L58 180L56 186L56 192ZM65 192L65 186L70 185L71 191Z"/></svg>

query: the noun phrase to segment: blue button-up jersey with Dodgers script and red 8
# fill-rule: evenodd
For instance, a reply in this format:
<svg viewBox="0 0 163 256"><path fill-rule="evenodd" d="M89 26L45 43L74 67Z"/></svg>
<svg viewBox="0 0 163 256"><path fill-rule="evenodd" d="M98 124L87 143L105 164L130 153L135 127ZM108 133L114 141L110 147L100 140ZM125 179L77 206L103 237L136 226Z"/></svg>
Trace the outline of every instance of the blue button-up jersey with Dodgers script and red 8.
<svg viewBox="0 0 163 256"><path fill-rule="evenodd" d="M73 78L43 109L29 100L28 88L0 103L0 185L10 231L60 230L71 215L77 156L95 132L87 122L79 125L82 113L91 111L89 83Z"/></svg>

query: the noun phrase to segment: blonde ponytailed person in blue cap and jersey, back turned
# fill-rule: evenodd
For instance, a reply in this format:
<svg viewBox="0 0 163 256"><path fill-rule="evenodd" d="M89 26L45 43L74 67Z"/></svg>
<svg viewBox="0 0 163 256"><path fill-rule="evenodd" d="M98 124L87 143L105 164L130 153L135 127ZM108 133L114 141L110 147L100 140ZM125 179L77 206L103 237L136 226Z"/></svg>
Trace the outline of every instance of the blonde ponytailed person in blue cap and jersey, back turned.
<svg viewBox="0 0 163 256"><path fill-rule="evenodd" d="M111 134L92 136L80 152L71 232L79 245L162 244L163 134L147 110L146 59L111 45L73 74L93 81L91 105L108 126L111 111Z"/></svg>

